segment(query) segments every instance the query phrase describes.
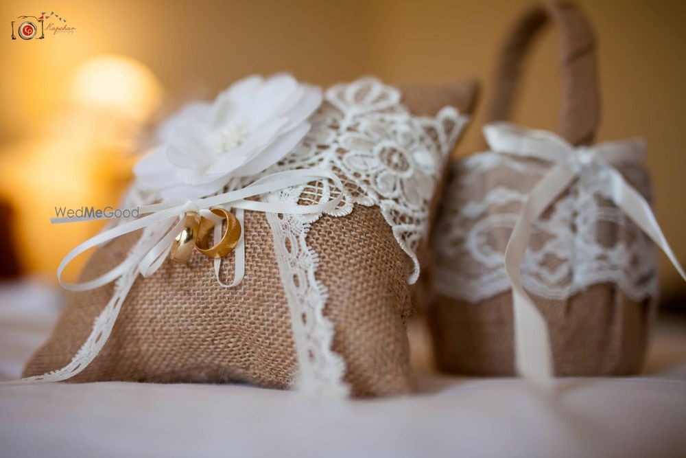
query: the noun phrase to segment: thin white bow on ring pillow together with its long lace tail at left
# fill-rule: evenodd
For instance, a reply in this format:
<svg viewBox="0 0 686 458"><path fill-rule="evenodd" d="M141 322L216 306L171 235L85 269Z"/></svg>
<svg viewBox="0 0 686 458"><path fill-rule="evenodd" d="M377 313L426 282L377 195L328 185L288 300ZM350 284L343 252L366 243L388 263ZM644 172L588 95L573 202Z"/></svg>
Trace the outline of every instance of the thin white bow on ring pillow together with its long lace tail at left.
<svg viewBox="0 0 686 458"><path fill-rule="evenodd" d="M279 190L285 190L289 187L306 185L313 181L331 180L340 190L338 196L329 199L322 199L322 202L313 205L300 205L297 203L271 203L249 200L250 197L259 196L261 194L268 194ZM214 218L209 209L212 207L224 207L226 209L236 209L236 218L244 225L243 212L244 210L263 211L277 214L317 214L324 211L329 211L338 207L344 196L344 186L342 181L336 174L330 170L317 169L300 169L287 170L285 172L277 172L268 176L263 176L254 183L224 194L217 194L204 198L198 198L190 201L180 202L163 202L153 205L146 205L139 207L139 214L145 216L137 218L128 222L120 222L119 225L107 229L99 233L97 236L90 238L78 245L75 249L70 251L60 263L57 270L57 277L60 284L72 291L85 291L94 288L99 288L115 280L119 281L120 292L113 295L105 308L100 312L91 334L86 339L86 342L80 350L72 358L71 362L62 369L51 371L48 374L41 376L32 376L22 378L21 380L9 380L0 382L0 385L16 385L23 383L40 383L40 382L56 382L59 380L67 380L80 371L84 370L88 364L99 354L102 347L105 345L110 332L112 332L115 321L121 309L121 303L126 298L129 288L132 286L137 275L147 277L152 275L163 264L169 251L171 250L171 243L182 229L187 211L196 211L208 218ZM93 219L108 219L93 218ZM71 218L55 218L53 222L73 222ZM98 245L114 240L127 233L143 229L143 235L139 242L130 251L126 260L121 264L111 269L104 275L97 277L89 282L80 284L69 284L62 282L62 272L67 264L75 257L84 253L84 251L97 247ZM221 225L215 225L215 239L221 235ZM245 247L244 247L244 233L241 231L241 238L236 247L235 256L235 276L232 284L223 284L219 278L221 259L215 259L215 275L220 285L230 288L240 284L245 271Z"/></svg>

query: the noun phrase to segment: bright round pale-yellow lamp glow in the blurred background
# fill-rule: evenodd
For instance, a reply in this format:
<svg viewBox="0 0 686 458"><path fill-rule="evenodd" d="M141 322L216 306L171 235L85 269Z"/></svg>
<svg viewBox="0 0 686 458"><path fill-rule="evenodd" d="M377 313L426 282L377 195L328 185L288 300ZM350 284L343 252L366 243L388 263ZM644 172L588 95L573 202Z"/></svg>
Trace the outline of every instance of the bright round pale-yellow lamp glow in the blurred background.
<svg viewBox="0 0 686 458"><path fill-rule="evenodd" d="M137 60L102 55L86 60L71 80L73 101L113 110L136 120L150 116L161 100L160 84Z"/></svg>

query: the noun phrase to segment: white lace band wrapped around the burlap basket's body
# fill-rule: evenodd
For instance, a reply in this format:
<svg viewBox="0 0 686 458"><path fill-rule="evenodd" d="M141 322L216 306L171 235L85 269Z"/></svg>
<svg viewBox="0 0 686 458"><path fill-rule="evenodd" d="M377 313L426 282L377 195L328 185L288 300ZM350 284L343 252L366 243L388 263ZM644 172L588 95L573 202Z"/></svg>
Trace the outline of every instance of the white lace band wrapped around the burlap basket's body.
<svg viewBox="0 0 686 458"><path fill-rule="evenodd" d="M641 194L650 194L643 165L617 169ZM506 243L528 192L547 170L545 162L495 152L456 163L453 176L459 179L447 189L434 239L439 293L475 303L510 290ZM531 293L565 300L610 282L635 301L657 294L654 243L613 205L600 173L584 170L534 224L521 266L522 284Z"/></svg>

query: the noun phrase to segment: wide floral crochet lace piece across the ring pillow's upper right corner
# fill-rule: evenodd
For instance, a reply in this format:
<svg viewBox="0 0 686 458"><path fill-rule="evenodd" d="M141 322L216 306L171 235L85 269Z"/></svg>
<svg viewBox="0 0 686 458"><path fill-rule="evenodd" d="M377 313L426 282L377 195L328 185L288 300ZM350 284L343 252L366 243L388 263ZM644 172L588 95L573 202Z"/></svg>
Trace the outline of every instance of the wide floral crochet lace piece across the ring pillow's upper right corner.
<svg viewBox="0 0 686 458"><path fill-rule="evenodd" d="M412 258L409 281L414 283L419 275L416 249L427 235L431 198L467 120L452 107L436 117L412 116L400 103L399 91L374 78L340 84L327 91L303 144L265 174L297 168L333 170L346 189L344 203L329 214L349 214L353 204L378 206ZM291 196L316 203L331 192L328 183L318 182Z"/></svg>

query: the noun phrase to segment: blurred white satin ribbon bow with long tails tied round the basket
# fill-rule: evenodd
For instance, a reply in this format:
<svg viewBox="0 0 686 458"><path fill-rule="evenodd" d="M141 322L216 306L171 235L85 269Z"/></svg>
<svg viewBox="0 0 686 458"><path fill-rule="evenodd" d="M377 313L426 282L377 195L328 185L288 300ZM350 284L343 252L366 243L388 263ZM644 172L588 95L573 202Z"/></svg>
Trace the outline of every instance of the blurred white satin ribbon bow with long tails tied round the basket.
<svg viewBox="0 0 686 458"><path fill-rule="evenodd" d="M554 133L529 130L507 122L488 124L484 136L493 152L541 159L553 167L536 183L524 201L505 250L505 271L512 286L514 353L517 372L549 391L554 386L554 364L547 323L521 284L520 267L531 228L549 205L591 165L610 184L610 198L660 247L678 273L686 273L667 243L650 205L611 164L642 162L646 146L641 139L613 141L576 148Z"/></svg>

